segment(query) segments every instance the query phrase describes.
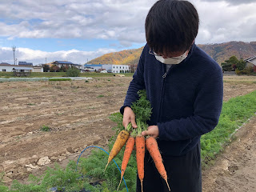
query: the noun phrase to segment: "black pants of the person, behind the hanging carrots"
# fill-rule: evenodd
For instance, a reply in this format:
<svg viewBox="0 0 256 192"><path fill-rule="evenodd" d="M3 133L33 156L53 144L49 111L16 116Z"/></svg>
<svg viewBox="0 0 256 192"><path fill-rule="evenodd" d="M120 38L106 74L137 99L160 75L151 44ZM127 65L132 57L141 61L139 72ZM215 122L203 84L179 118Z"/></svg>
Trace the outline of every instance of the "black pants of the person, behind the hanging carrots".
<svg viewBox="0 0 256 192"><path fill-rule="evenodd" d="M200 143L182 156L162 155L168 183L172 192L202 192ZM145 154L143 192L167 192L166 181L158 174L148 151ZM137 175L137 192L141 192L141 182Z"/></svg>

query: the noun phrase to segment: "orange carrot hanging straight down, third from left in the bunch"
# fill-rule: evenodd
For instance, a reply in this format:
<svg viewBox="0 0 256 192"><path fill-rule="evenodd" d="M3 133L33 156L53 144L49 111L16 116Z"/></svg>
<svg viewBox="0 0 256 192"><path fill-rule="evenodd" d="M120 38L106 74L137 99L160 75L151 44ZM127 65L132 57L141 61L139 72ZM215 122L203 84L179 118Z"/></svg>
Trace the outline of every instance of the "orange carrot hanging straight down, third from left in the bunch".
<svg viewBox="0 0 256 192"><path fill-rule="evenodd" d="M138 169L138 178L141 181L141 185L144 179L144 158L145 158L145 138L141 134L135 138L136 143L136 161ZM143 187L142 187L143 191Z"/></svg>

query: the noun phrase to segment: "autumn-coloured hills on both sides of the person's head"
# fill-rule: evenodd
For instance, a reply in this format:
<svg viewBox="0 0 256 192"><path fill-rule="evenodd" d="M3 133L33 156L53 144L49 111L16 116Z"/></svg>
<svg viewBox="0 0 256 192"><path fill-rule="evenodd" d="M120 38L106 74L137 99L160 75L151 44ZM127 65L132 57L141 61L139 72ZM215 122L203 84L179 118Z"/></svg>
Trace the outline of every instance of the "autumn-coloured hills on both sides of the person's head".
<svg viewBox="0 0 256 192"><path fill-rule="evenodd" d="M256 56L256 42L223 42L216 44L197 45L206 51L210 57L214 58L220 65L231 56L240 58L250 58ZM110 54L104 54L101 57L94 58L90 64L117 64L117 65L137 65L139 56L143 47L134 50L122 50Z"/></svg>

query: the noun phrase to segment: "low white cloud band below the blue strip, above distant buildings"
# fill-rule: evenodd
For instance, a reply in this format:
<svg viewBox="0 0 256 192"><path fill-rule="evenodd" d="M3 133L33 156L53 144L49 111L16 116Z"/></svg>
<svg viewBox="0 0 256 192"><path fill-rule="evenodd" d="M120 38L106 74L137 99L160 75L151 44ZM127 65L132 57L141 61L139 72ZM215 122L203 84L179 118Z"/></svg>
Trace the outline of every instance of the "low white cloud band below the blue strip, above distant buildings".
<svg viewBox="0 0 256 192"><path fill-rule="evenodd" d="M42 50L31 50L29 48L17 48L15 52L10 47L0 47L0 62L14 63L15 58L18 62L26 61L33 62L34 65L39 63L53 62L53 61L69 61L77 64L84 64L93 58L97 58L102 54L114 52L114 49L98 49L96 51L81 51L81 50L59 50L54 52L47 52Z"/></svg>

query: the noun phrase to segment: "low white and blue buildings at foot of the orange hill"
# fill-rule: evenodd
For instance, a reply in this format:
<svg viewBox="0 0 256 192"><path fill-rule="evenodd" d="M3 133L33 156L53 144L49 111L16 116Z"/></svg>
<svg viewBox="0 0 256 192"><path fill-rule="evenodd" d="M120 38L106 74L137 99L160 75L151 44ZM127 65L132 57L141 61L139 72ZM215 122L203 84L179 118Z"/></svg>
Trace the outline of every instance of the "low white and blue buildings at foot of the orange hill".
<svg viewBox="0 0 256 192"><path fill-rule="evenodd" d="M130 73L130 66L128 65L112 65L112 64L85 64L84 70L87 71L102 71L106 70L108 73L113 74L126 74Z"/></svg>

